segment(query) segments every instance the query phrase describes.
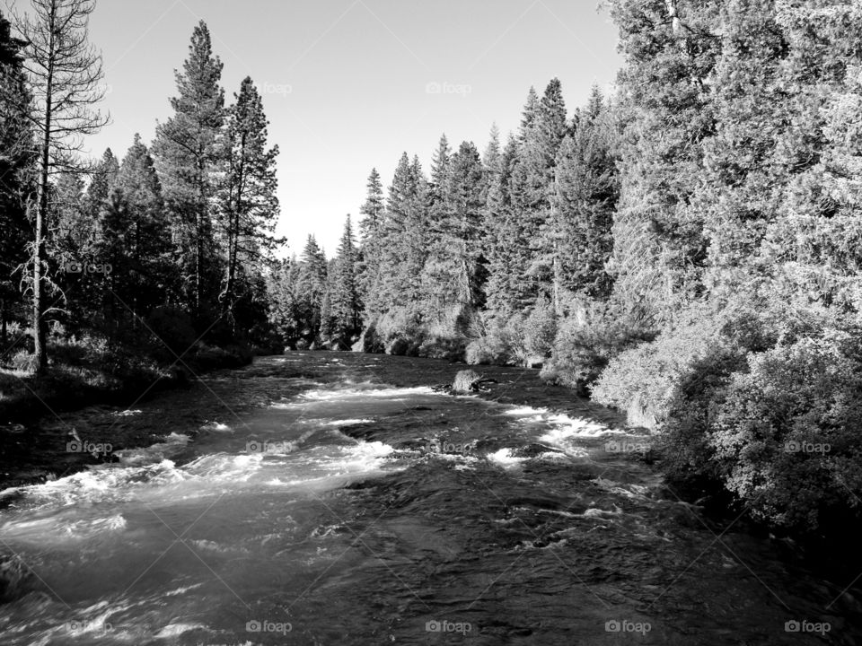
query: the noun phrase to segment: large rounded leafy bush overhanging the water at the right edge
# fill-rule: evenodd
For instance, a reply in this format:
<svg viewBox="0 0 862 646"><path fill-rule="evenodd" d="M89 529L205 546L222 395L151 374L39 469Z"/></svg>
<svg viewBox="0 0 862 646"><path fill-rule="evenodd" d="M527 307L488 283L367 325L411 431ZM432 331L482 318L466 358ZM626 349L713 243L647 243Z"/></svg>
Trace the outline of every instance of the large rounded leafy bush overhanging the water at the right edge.
<svg viewBox="0 0 862 646"><path fill-rule="evenodd" d="M712 470L753 517L805 531L858 513L862 328L782 339L712 399Z"/></svg>

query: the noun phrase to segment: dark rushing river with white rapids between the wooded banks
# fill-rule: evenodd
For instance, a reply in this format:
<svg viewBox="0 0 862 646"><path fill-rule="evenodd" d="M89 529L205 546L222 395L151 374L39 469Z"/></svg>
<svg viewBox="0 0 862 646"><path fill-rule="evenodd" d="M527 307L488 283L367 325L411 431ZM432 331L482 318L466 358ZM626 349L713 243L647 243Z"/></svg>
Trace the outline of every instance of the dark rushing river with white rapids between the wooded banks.
<svg viewBox="0 0 862 646"><path fill-rule="evenodd" d="M485 371L502 401L427 388L457 370L290 354L64 420L158 441L0 511L28 573L0 643L862 643L858 572L702 518L530 371Z"/></svg>

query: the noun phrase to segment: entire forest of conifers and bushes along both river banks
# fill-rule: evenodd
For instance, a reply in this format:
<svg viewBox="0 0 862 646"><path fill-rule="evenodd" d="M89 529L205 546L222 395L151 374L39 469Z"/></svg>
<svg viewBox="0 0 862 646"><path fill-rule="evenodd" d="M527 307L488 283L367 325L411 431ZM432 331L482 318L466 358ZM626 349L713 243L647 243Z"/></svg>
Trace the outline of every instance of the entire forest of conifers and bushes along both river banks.
<svg viewBox="0 0 862 646"><path fill-rule="evenodd" d="M858 3L611 0L614 92L570 110L537 80L515 133L443 135L385 188L371 170L333 258L313 238L281 258L278 149L251 78L225 100L204 23L154 142L80 159L103 125L93 4L60 0L62 26L55 4L0 22L9 369L253 348L541 367L653 430L693 498L793 533L859 519Z"/></svg>

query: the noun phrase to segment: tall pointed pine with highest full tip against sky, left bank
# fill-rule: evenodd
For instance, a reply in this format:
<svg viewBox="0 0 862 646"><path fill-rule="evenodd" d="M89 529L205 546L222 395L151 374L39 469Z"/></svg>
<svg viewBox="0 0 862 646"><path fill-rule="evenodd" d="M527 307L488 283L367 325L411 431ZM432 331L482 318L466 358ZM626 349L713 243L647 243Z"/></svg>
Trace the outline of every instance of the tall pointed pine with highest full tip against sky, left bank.
<svg viewBox="0 0 862 646"><path fill-rule="evenodd" d="M174 115L156 128L154 144L156 169L174 216L174 243L183 254L186 301L198 319L216 307L220 273L211 205L223 167L222 67L213 55L207 23L201 21L182 72L175 72L179 93L171 99Z"/></svg>

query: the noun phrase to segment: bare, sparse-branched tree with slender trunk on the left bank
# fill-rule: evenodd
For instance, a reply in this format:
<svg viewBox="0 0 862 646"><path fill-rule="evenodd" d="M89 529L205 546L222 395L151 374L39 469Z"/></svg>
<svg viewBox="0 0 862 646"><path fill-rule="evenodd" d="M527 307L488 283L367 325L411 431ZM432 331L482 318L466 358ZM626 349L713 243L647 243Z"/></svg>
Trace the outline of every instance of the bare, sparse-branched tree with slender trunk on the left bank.
<svg viewBox="0 0 862 646"><path fill-rule="evenodd" d="M46 239L50 179L59 170L82 170L76 154L85 135L108 119L93 109L104 95L101 56L88 40L94 0L32 0L32 15L16 16L27 42L24 69L32 92L31 123L39 141L38 195L33 226L32 323L38 371L48 366Z"/></svg>

